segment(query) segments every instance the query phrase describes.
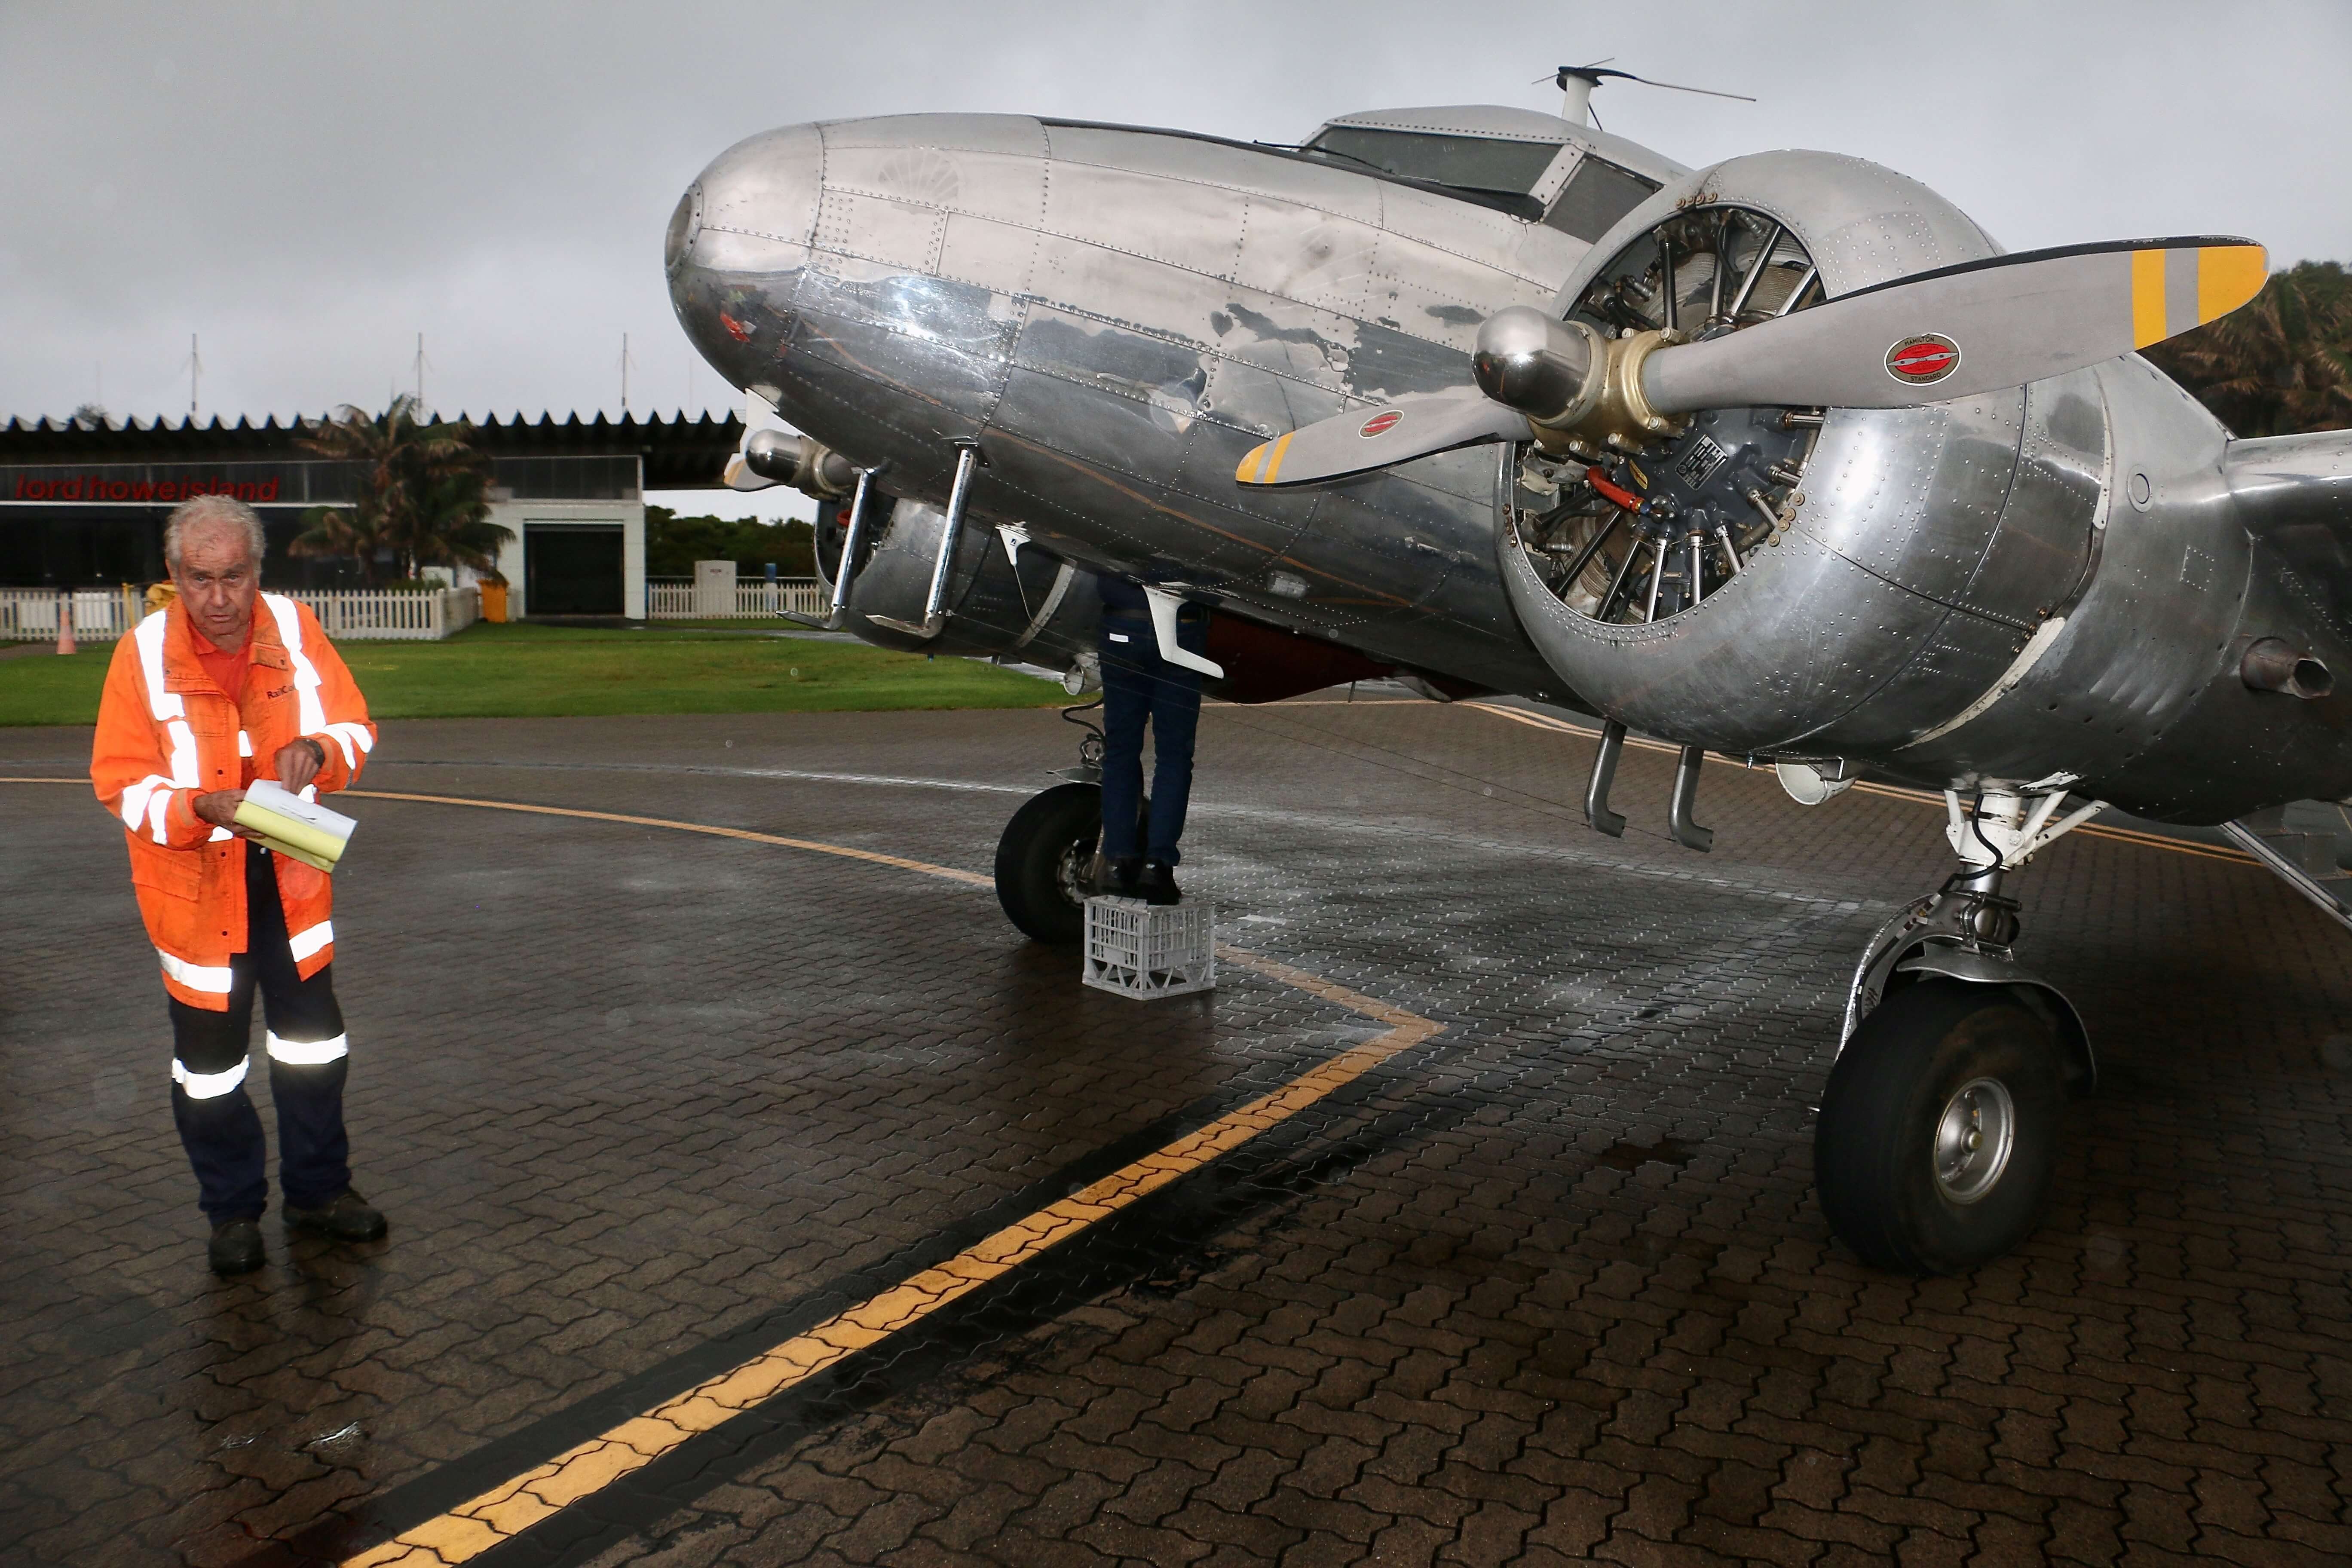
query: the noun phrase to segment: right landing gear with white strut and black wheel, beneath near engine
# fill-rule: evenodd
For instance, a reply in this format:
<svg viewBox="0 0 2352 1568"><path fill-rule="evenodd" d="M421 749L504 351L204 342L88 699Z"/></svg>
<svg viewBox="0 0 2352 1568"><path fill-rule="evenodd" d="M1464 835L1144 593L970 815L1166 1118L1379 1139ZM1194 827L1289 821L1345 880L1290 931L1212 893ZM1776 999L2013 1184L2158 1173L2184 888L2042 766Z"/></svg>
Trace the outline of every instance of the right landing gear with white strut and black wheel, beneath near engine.
<svg viewBox="0 0 2352 1568"><path fill-rule="evenodd" d="M2072 1004L2011 954L2018 905L2002 879L2100 809L2058 818L2063 797L1962 806L1947 792L1964 870L1886 922L1853 971L1813 1185L1830 1229L1875 1267L1966 1274L2042 1215L2060 1107L2096 1067Z"/></svg>

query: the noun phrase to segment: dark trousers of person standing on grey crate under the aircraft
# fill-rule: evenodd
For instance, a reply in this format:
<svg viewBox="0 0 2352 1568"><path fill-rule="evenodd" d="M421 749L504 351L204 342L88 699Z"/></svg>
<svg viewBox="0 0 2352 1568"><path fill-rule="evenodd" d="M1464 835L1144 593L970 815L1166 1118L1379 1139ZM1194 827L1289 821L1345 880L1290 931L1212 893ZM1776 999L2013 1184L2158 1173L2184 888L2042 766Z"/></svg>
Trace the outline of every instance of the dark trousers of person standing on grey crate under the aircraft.
<svg viewBox="0 0 2352 1568"><path fill-rule="evenodd" d="M1176 646L1200 654L1209 623L1176 621ZM1103 853L1112 860L1176 865L1183 811L1192 797L1192 731L1200 729L1200 670L1160 658L1150 616L1103 616ZM1138 844L1143 809L1143 724L1152 726L1152 820Z"/></svg>

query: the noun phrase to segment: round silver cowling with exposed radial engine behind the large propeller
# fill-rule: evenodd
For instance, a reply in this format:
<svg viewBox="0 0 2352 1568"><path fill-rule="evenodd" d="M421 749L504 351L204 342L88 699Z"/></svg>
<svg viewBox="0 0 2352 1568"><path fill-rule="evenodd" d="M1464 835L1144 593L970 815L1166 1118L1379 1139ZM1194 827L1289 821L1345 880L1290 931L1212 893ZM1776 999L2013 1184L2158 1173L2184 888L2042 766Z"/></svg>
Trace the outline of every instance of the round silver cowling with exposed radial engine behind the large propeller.
<svg viewBox="0 0 2352 1568"><path fill-rule="evenodd" d="M1703 339L1994 252L1917 181L1764 153L1628 214L1555 315ZM2079 790L2211 820L2239 795L2176 724L2216 682L2263 701L2225 442L2138 357L1907 409L1705 409L1505 449L1498 564L1545 661L1635 729L1938 788L2065 755Z"/></svg>

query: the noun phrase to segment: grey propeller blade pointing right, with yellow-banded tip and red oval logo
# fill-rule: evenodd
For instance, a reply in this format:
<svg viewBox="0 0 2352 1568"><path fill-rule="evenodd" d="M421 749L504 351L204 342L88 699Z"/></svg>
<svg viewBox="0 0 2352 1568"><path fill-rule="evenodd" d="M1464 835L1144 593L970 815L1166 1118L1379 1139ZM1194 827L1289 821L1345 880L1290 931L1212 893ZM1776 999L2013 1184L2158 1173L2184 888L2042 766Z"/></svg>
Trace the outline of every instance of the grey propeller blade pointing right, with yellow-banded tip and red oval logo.
<svg viewBox="0 0 2352 1568"><path fill-rule="evenodd" d="M1750 404L1903 409L2063 376L2201 327L2263 292L2251 240L2117 240L1994 256L1661 348L1661 414Z"/></svg>

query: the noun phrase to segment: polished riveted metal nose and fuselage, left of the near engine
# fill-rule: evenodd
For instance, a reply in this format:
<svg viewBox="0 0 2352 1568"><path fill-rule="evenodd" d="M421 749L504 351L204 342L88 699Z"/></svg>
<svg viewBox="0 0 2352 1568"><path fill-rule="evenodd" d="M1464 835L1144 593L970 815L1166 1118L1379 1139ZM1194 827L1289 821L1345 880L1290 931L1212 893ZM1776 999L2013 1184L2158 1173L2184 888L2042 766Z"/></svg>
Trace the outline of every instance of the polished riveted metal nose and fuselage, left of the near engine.
<svg viewBox="0 0 2352 1568"><path fill-rule="evenodd" d="M1479 115L1562 143L1538 197L1602 141L1618 165L1679 174L1550 115L1388 120ZM894 496L943 503L950 442L978 437L971 515L1021 522L1040 550L1564 701L1494 576L1491 454L1303 494L1240 494L1232 470L1345 407L1465 386L1477 324L1545 303L1585 249L1472 200L1202 136L908 115L722 153L673 223L670 294L706 360L882 468ZM1308 592L1275 592L1277 576Z"/></svg>

